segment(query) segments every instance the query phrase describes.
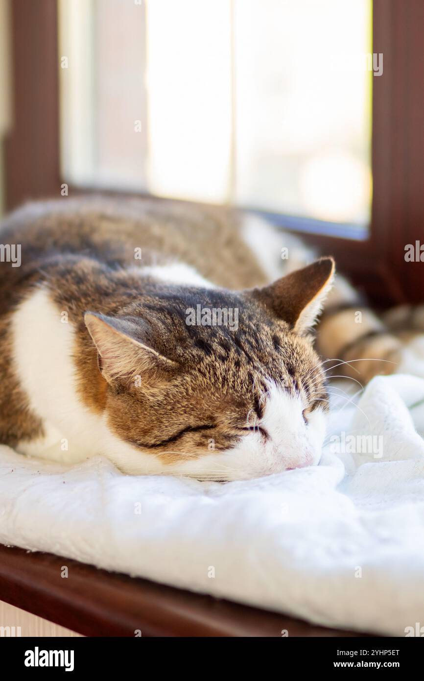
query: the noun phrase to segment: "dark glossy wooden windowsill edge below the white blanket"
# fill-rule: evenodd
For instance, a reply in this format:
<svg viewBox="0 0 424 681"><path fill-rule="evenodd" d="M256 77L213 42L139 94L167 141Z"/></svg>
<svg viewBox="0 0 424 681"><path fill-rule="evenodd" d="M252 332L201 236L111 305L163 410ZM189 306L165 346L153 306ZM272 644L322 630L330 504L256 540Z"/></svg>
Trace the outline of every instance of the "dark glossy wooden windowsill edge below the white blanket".
<svg viewBox="0 0 424 681"><path fill-rule="evenodd" d="M290 637L361 635L3 545L0 601L85 636L133 637L136 630L146 637L281 637L282 630Z"/></svg>

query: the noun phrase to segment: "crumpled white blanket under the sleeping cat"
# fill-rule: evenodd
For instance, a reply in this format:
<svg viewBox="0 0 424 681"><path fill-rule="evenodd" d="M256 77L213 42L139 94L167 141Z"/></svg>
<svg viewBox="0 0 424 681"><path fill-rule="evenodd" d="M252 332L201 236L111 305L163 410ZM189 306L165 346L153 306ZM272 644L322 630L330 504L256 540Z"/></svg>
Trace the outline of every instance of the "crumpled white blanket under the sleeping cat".
<svg viewBox="0 0 424 681"><path fill-rule="evenodd" d="M318 467L252 481L129 477L105 458L69 467L0 447L0 541L405 635L424 626L424 381L378 377L357 406L340 396Z"/></svg>

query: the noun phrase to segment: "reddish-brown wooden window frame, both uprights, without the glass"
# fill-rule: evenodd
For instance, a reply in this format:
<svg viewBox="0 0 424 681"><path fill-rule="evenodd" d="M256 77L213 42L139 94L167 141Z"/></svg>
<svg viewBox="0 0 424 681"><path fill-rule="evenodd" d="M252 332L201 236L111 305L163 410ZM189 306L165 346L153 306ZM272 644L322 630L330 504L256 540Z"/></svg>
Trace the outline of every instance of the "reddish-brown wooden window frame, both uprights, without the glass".
<svg viewBox="0 0 424 681"><path fill-rule="evenodd" d="M12 0L14 128L6 141L6 201L59 195L59 55L56 0ZM374 197L368 238L308 234L321 253L381 306L422 302L424 268L405 262L406 244L424 242L424 3L374 0Z"/></svg>

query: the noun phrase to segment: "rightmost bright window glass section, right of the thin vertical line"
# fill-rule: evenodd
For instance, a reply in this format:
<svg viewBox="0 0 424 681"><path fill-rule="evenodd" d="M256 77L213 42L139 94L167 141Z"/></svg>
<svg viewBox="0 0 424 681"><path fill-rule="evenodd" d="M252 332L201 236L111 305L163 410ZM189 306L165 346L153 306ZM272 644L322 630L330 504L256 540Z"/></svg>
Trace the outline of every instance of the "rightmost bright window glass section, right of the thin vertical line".
<svg viewBox="0 0 424 681"><path fill-rule="evenodd" d="M366 223L370 0L235 0L236 200Z"/></svg>

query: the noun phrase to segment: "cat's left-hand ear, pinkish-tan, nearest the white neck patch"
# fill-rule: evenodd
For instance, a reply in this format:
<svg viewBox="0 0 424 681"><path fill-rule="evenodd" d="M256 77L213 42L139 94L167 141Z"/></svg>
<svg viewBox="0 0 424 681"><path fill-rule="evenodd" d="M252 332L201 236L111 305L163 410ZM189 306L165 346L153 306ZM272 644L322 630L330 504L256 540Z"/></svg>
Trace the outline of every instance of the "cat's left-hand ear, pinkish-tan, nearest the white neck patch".
<svg viewBox="0 0 424 681"><path fill-rule="evenodd" d="M84 322L97 347L99 369L106 381L142 385L163 381L173 375L178 364L140 340L143 323L122 317L106 317L86 312Z"/></svg>

